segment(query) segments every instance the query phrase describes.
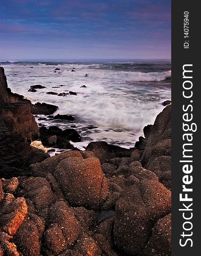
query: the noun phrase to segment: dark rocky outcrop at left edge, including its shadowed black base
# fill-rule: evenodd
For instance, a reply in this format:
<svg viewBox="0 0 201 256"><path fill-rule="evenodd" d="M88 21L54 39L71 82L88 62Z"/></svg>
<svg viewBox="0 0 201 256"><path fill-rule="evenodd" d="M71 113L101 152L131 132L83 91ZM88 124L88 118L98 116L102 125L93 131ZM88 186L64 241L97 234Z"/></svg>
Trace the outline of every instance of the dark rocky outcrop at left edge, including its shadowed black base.
<svg viewBox="0 0 201 256"><path fill-rule="evenodd" d="M31 102L8 88L0 67L0 177L29 175L29 165L40 162L48 154L30 146L39 130L31 113Z"/></svg>

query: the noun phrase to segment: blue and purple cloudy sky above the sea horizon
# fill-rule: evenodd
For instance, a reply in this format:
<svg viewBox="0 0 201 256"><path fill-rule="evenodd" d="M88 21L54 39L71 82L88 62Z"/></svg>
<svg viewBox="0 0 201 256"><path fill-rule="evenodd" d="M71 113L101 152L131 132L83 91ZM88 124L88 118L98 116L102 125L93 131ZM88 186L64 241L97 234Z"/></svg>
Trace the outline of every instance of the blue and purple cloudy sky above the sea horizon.
<svg viewBox="0 0 201 256"><path fill-rule="evenodd" d="M0 61L170 59L171 0L0 0Z"/></svg>

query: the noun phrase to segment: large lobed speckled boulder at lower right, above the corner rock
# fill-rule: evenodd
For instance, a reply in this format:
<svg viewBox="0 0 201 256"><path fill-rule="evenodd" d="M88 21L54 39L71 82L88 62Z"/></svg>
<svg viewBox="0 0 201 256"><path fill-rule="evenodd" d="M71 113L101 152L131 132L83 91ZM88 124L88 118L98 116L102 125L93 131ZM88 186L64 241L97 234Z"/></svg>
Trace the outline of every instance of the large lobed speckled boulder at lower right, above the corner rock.
<svg viewBox="0 0 201 256"><path fill-rule="evenodd" d="M171 194L158 181L144 179L127 187L115 206L115 245L123 253L138 255L151 237L155 221L170 211Z"/></svg>

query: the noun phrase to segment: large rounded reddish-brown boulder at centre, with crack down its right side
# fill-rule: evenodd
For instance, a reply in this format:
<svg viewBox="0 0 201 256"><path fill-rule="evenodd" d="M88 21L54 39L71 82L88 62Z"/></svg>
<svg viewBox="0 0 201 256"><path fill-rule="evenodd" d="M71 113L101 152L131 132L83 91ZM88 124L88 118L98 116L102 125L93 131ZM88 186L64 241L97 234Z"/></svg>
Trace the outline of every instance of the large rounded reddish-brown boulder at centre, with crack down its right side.
<svg viewBox="0 0 201 256"><path fill-rule="evenodd" d="M95 157L64 159L57 165L54 175L74 206L98 209L108 195L108 180Z"/></svg>

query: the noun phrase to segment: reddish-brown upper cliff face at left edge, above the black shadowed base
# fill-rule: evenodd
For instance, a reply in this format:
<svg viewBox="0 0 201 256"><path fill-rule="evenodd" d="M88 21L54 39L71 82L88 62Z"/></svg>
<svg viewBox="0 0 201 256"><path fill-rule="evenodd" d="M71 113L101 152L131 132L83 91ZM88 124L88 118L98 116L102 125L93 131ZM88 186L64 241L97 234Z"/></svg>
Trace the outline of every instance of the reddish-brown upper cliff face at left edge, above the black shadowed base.
<svg viewBox="0 0 201 256"><path fill-rule="evenodd" d="M0 143L31 140L39 134L30 103L10 93L3 67L0 67Z"/></svg>

